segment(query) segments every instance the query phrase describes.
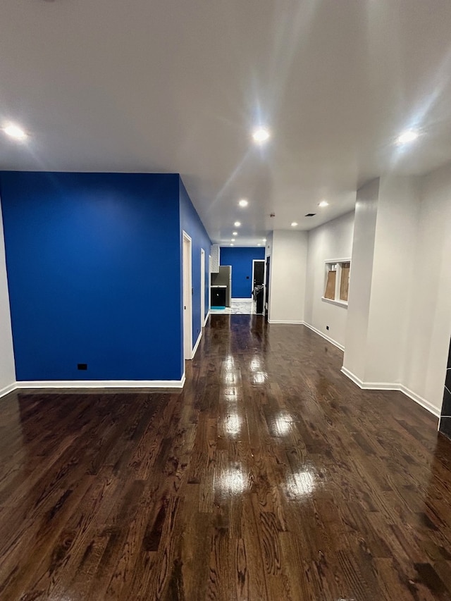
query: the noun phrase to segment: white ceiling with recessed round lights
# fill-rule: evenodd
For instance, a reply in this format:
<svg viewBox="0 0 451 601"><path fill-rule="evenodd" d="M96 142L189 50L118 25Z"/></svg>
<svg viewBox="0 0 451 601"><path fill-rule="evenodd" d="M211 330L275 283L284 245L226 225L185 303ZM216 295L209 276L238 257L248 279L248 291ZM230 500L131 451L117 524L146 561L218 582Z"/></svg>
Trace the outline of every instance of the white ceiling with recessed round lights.
<svg viewBox="0 0 451 601"><path fill-rule="evenodd" d="M0 118L30 137L0 168L180 173L214 242L313 228L451 161L450 32L450 0L1 0Z"/></svg>

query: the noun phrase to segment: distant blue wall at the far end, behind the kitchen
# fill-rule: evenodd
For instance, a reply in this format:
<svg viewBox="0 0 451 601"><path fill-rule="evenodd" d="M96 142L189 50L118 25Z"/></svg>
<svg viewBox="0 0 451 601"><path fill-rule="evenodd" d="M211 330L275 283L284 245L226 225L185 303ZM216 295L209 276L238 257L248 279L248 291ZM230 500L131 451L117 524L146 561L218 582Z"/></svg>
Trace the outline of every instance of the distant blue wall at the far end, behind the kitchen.
<svg viewBox="0 0 451 601"><path fill-rule="evenodd" d="M221 265L232 266L232 297L246 299L252 295L252 260L264 259L264 247L221 247ZM249 280L247 280L249 276Z"/></svg>

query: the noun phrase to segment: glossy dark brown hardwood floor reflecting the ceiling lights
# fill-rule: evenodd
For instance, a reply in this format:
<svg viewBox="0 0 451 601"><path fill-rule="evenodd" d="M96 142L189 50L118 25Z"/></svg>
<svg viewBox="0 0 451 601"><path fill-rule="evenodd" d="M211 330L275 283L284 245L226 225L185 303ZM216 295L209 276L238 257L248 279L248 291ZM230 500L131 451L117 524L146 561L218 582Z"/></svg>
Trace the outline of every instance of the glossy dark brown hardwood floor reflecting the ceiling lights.
<svg viewBox="0 0 451 601"><path fill-rule="evenodd" d="M451 442L303 326L212 316L183 392L0 400L0 599L451 599Z"/></svg>

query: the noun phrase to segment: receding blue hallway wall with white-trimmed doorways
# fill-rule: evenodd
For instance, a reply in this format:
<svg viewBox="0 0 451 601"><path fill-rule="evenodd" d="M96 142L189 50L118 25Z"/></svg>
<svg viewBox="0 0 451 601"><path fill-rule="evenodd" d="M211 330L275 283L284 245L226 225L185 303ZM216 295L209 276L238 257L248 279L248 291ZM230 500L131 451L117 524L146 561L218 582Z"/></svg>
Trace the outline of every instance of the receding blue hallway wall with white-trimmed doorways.
<svg viewBox="0 0 451 601"><path fill-rule="evenodd" d="M192 239L192 344L194 347L204 321L201 318L200 297L202 277L205 282L204 318L209 311L209 254L211 240L180 178L180 253L183 252L183 231ZM204 249L205 252L205 269L203 274L201 273L201 249ZM181 320L183 324L183 309Z"/></svg>

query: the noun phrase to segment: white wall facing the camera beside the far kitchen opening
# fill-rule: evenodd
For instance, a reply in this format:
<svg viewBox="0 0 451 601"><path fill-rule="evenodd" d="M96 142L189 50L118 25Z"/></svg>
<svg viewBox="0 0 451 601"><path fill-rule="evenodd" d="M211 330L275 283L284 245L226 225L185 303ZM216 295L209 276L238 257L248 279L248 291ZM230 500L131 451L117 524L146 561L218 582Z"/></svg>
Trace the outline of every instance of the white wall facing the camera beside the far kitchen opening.
<svg viewBox="0 0 451 601"><path fill-rule="evenodd" d="M270 246L268 321L302 323L307 271L307 233L275 230Z"/></svg>

